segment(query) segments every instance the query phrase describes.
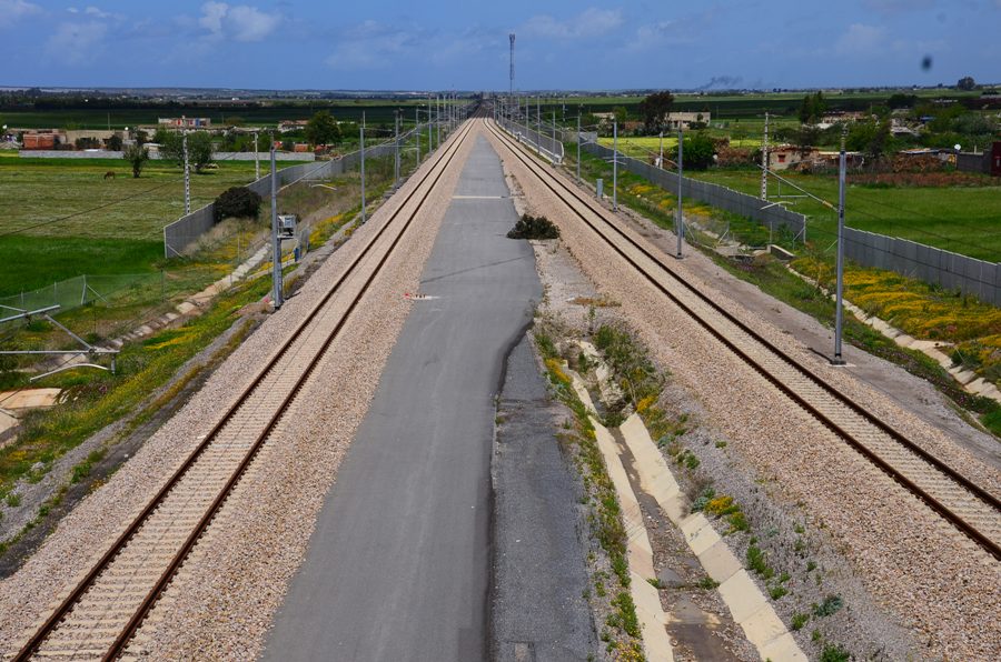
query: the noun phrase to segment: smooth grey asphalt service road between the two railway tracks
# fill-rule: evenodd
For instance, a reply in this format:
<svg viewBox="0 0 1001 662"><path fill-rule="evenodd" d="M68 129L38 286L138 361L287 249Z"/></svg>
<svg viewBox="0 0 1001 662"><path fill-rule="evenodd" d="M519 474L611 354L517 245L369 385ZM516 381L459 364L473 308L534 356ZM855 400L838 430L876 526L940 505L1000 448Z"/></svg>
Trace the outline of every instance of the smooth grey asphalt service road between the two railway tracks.
<svg viewBox="0 0 1001 662"><path fill-rule="evenodd" d="M495 398L542 297L508 195L477 137L266 660L489 655Z"/></svg>

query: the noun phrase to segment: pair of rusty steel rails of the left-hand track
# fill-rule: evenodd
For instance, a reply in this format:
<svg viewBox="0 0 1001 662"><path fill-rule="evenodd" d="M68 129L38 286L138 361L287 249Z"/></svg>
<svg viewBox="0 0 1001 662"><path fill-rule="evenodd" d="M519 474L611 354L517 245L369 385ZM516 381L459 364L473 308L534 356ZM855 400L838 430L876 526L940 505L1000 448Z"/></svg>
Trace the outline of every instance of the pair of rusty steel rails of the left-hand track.
<svg viewBox="0 0 1001 662"><path fill-rule="evenodd" d="M264 430L258 434L257 439L250 447L250 449L245 454L241 460L239 467L234 471L230 475L229 480L224 485L224 489L216 499L212 501L210 508L202 518L199 520L195 530L189 534L187 540L185 541L181 549L175 554L167 570L160 575L157 580L155 586L149 591L146 598L142 600L142 603L139 606L139 610L132 615L126 625L125 630L116 638L115 643L111 649L105 655L105 660L112 660L120 655L131 636L141 625L143 619L148 615L149 611L156 604L159 595L169 584L177 570L184 563L185 559L188 556L190 551L194 549L198 539L205 532L205 530L210 524L211 520L215 518L222 503L226 501L226 498L232 492L234 488L239 482L240 478L244 475L246 470L249 468L254 458L257 455L260 448L264 445L267 440L268 434L274 430L274 427L278 423L280 418L284 415L287 405L291 402L295 395L299 392L301 387L305 384L308 377L313 373L314 369L319 364L326 350L330 345L330 343L335 340L335 338L339 334L341 328L347 323L350 313L357 307L360 299L368 291L369 285L381 271L383 265L386 263L388 258L394 253L396 245L399 243L400 239L406 233L407 229L410 227L410 223L416 218L417 213L422 209L424 202L427 200L430 192L434 190L437 182L440 180L444 172L448 169L452 160L455 158L455 154L458 152L459 147L463 141L472 131L472 122L466 127L466 130L463 133L457 134L457 138L453 141L450 146L448 146L448 150L438 156L438 160L428 169L428 171L422 177L420 181L414 187L414 189L407 193L406 198L399 203L396 210L393 211L392 215L383 223L381 228L379 228L378 232L373 237L373 239L365 245L365 248L358 252L358 254L351 260L348 268L337 278L331 288L324 294L323 299L313 307L306 318L296 327L293 333L286 339L286 341L281 344L279 350L272 354L267 364L258 371L255 375L254 380L251 380L250 384L240 393L240 395L230 404L224 415L217 420L217 422L212 425L211 430L206 438L196 447L196 449L186 458L186 460L181 463L181 465L175 471L175 473L168 479L167 483L165 483L157 494L147 503L147 505L142 509L140 514L132 520L129 526L116 539L112 545L105 552L101 559L91 568L91 570L87 573L87 575L75 586L75 589L70 592L70 594L60 603L60 605L56 609L56 611L46 620L46 622L39 628L39 630L31 636L31 639L21 648L20 652L14 658L16 661L23 661L31 658L34 652L39 649L39 646L44 642L44 640L51 634L59 623L72 611L73 605L79 602L80 598L87 593L87 591L95 584L96 580L101 575L101 573L107 569L107 566L113 561L113 559L126 548L129 541L135 536L135 534L141 529L143 523L149 519L151 513L166 500L166 498L170 494L172 489L180 482L181 478L188 473L191 467L195 465L197 460L204 454L206 449L211 445L211 442L218 435L218 433L222 430L222 428L232 420L239 407L247 401L251 393L254 393L257 388L260 385L261 381L271 371L271 369L285 358L289 348L293 343L298 340L306 329L313 323L313 321L319 315L319 313L327 307L334 295L340 291L341 285L345 281L354 275L357 267L361 263L365 257L368 255L369 251L379 243L383 234L387 231L387 229L394 224L394 221L399 217L403 212L404 208L412 199L420 191L420 187L432 179L434 179L429 187L424 190L424 194L418 199L416 208L409 213L406 218L406 221L403 228L399 230L396 238L393 240L389 249L386 251L386 254L379 260L376 264L376 268L373 270L371 274L366 279L361 290L358 292L357 297L351 301L348 309L343 313L341 319L337 322L333 332L326 339L320 350L316 353L316 355L309 361L306 370L300 374L294 388L283 399L280 405L276 409L276 411L271 414L268 422L266 423ZM440 164L440 168L438 165Z"/></svg>

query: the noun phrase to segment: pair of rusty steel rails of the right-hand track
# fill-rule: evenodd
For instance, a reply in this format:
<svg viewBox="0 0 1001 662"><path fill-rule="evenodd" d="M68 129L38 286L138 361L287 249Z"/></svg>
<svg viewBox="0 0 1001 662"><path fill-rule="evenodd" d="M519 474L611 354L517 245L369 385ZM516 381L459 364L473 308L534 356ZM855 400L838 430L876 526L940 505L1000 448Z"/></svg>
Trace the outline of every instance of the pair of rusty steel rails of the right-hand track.
<svg viewBox="0 0 1001 662"><path fill-rule="evenodd" d="M785 393L789 398L791 398L794 402L800 404L803 409L805 409L810 414L820 420L826 428L834 431L839 437L844 439L852 448L863 454L866 459L869 459L872 463L879 467L884 473L886 473L891 479L895 482L903 485L908 491L913 493L915 496L924 501L933 511L935 511L939 515L949 521L953 526L962 531L965 535L971 538L974 542L977 542L980 546L982 546L985 551L988 551L995 559L1001 560L1001 545L992 539L988 538L984 533L978 530L973 524L968 522L961 515L953 512L949 506L941 503L938 499L935 499L932 494L929 494L926 490L915 484L911 479L904 475L898 468L890 464L883 458L879 457L872 449L870 449L865 443L861 442L856 439L856 437L849 430L844 429L840 423L834 421L829 414L824 413L813 403L809 402L805 398L803 398L800 393L795 391L792 387L784 383L780 378L772 374L767 369L761 365L760 361L750 357L743 349L736 345L736 343L726 338L726 335L716 329L708 320L704 319L703 315L694 311L688 304L682 301L676 294L671 292L666 287L663 285L653 274L648 272L647 269L642 267L636 262L635 259L625 253L618 245L615 244L614 241L608 239L601 230L598 230L595 224L587 220L587 218L581 213L579 209L574 205L573 202L567 200L567 198L562 194L556 187L554 187L546 178L557 182L559 187L569 193L571 197L576 199L578 203L583 203L588 211L591 211L594 215L598 217L602 221L605 222L607 227L613 229L618 233L625 241L627 241L634 249L640 251L644 257L650 259L652 262L661 267L661 269L670 275L673 280L675 280L678 284L684 287L688 292L694 294L701 302L705 303L710 308L713 309L714 312L725 318L729 322L734 324L740 331L747 334L752 340L756 341L759 344L763 345L769 352L784 361L787 365L796 370L801 375L805 377L815 385L820 387L827 394L830 394L833 399L839 401L841 404L844 404L854 413L860 415L865 420L866 423L873 425L884 434L889 435L891 439L903 445L908 451L912 452L921 460L925 461L928 464L933 467L935 470L947 475L957 484L961 485L970 494L982 501L983 503L990 505L994 509L994 511L1001 512L1001 501L995 498L993 494L975 484L973 481L968 479L967 477L959 473L957 470L952 469L943 461L939 460L930 452L918 445L914 441L908 439L903 433L896 431L891 425L885 423L884 421L876 418L874 414L870 413L865 410L864 407L859 404L855 400L850 398L849 395L842 393L839 389L827 383L822 378L817 377L813 373L812 370L800 363L796 359L790 357L784 350L777 348L767 339L763 338L756 331L751 329L743 321L737 319L734 314L732 314L726 309L722 308L718 303L713 301L708 295L701 292L697 288L688 283L686 280L681 278L676 272L666 267L663 259L658 255L655 255L652 251L650 251L646 247L640 244L636 240L630 237L625 231L623 231L616 223L609 221L605 218L607 213L604 208L597 207L595 208L594 203L586 197L583 197L577 191L573 190L566 182L563 182L561 178L552 174L545 167L538 165L534 162L534 160L529 157L525 156L523 150L517 149L516 143L511 140L504 132L496 130L494 127L489 126L488 129L502 140L508 149L515 154L515 157L522 161L526 168L529 169L539 181L546 185L553 193L559 198L567 208L573 211L581 220L584 221L598 237L605 240L624 260L626 260L630 264L632 264L640 273L642 273L646 280L648 280L656 289L658 289L663 294L665 294L668 299L671 299L676 305L678 305L682 310L684 310L690 317L692 317L700 325L706 329L710 333L712 333L717 340L720 340L724 345L726 345L731 351L741 357L746 363L749 363L756 372L759 372L762 377L769 380L772 384L779 388L783 393ZM545 175L545 177L543 177Z"/></svg>

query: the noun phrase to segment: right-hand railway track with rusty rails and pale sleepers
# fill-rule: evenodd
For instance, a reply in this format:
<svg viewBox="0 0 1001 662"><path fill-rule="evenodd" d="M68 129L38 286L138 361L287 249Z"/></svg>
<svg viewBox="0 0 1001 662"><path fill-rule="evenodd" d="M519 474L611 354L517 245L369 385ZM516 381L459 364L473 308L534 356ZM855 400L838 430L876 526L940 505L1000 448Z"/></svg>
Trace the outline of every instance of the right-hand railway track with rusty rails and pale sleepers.
<svg viewBox="0 0 1001 662"><path fill-rule="evenodd" d="M493 122L497 137L538 180L654 288L789 399L895 482L1001 560L1001 501L763 338L682 278L664 253L622 228L614 214L543 165Z"/></svg>

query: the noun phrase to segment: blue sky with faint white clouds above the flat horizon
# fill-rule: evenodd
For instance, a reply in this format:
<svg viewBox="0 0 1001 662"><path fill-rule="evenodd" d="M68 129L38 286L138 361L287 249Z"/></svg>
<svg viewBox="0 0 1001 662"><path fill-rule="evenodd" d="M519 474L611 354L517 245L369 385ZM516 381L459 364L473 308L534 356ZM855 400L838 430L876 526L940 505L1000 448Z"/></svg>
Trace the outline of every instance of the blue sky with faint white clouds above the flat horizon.
<svg viewBox="0 0 1001 662"><path fill-rule="evenodd" d="M1001 81L1001 0L0 0L0 86L506 90L512 31L522 90Z"/></svg>

